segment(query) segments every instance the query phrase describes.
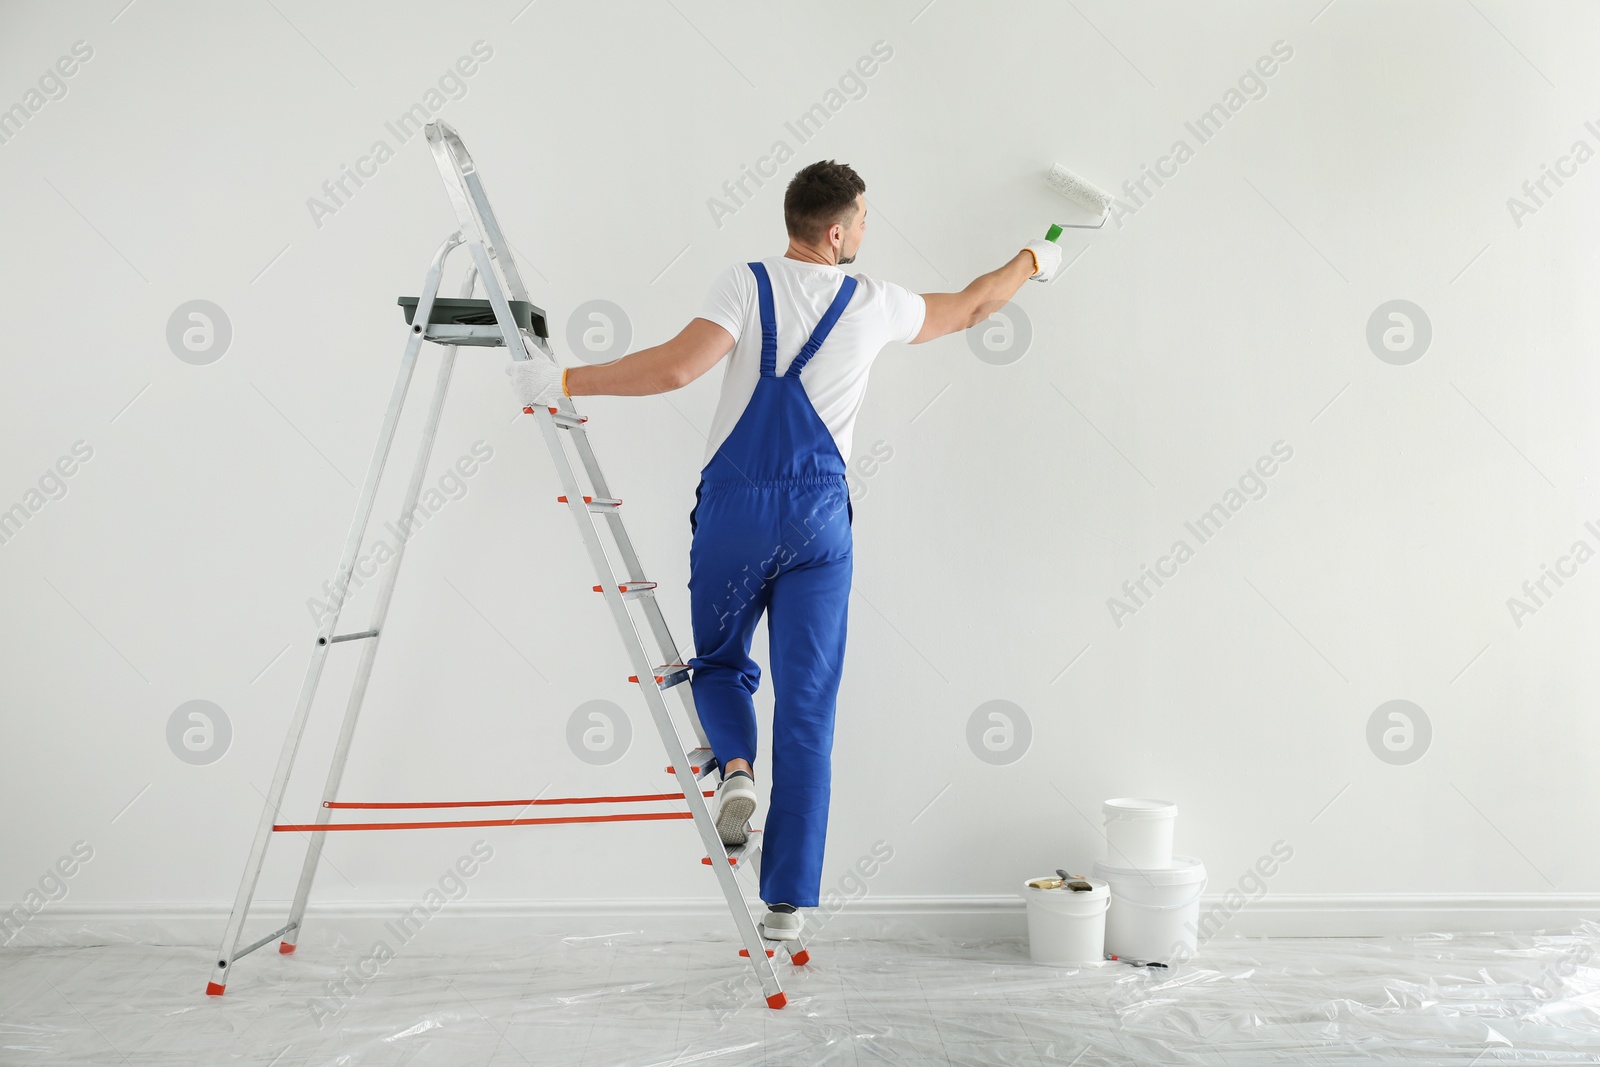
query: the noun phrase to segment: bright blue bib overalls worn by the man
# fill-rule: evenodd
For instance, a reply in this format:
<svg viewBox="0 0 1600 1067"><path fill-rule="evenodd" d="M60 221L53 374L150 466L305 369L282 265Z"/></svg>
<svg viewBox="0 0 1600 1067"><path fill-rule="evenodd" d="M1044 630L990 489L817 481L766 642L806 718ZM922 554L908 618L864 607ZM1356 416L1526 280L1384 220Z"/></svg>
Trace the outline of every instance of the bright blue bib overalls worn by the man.
<svg viewBox="0 0 1600 1067"><path fill-rule="evenodd" d="M845 459L800 384L856 291L838 294L779 378L766 267L752 262L762 312L762 376L744 414L701 470L690 512L694 705L712 753L755 763L762 669L750 637L766 613L773 670L771 806L762 899L816 907L832 789L834 705L850 601L850 490Z"/></svg>

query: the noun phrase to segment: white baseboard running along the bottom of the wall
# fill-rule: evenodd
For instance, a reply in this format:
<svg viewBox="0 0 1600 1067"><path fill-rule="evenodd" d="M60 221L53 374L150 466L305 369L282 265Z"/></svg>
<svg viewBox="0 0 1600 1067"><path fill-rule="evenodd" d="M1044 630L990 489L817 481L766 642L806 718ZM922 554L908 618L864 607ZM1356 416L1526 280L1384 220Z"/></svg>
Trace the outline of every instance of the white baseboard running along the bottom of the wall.
<svg viewBox="0 0 1600 1067"><path fill-rule="evenodd" d="M312 904L314 926L328 937L365 942L418 901ZM227 923L227 904L46 904L0 944L166 944L211 947ZM288 901L259 901L246 937L286 921ZM1202 897L1202 929L1211 937L1362 937L1381 934L1566 931L1600 921L1600 894L1269 894L1230 909L1221 894ZM1205 918L1210 915L1210 921ZM654 937L728 937L720 897L667 901L472 901L446 902L426 921L427 941L525 934L602 936L638 931ZM867 896L834 913L816 909L806 929L821 937L936 936L1021 937L1026 905L1016 896ZM10 936L8 936L10 934ZM270 950L267 947L266 950Z"/></svg>

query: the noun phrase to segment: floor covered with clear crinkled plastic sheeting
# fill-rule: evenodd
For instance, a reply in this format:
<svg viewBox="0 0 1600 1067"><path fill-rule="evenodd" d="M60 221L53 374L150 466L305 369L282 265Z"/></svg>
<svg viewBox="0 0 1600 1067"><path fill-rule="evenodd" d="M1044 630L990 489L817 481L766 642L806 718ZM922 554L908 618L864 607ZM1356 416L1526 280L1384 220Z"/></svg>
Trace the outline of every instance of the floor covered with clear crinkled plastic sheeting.
<svg viewBox="0 0 1600 1067"><path fill-rule="evenodd" d="M205 949L8 949L0 1064L1600 1062L1600 923L1213 941L1170 973L1040 968L1019 939L827 939L805 968L778 953L782 1011L736 952L637 933L408 945L362 977L363 945L307 937L208 998Z"/></svg>

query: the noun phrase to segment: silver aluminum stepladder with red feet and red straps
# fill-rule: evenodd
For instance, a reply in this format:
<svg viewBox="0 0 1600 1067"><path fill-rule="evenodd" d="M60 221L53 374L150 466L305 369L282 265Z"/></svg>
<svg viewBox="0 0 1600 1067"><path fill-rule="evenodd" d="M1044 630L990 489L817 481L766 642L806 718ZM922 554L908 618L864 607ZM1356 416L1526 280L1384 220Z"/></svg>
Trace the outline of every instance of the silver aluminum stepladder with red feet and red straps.
<svg viewBox="0 0 1600 1067"><path fill-rule="evenodd" d="M405 355L400 360L400 374L395 381L394 392L389 397L389 408L384 414L382 427L378 435L378 446L373 453L371 464L366 469L366 478L362 483L362 491L357 499L355 518L350 523L344 550L339 557L339 568L333 581L334 595L330 603L331 611L325 616L322 629L317 633L315 645L312 646L310 662L306 669L306 680L301 685L294 715L290 720L288 734L283 739L283 750L278 755L277 769L272 776L272 787L267 792L266 803L262 806L261 821L256 827L256 838L245 864L245 875L240 881L238 894L234 899L234 910L229 915L221 949L218 950L216 961L211 968L211 979L206 985L206 993L221 995L227 985L234 963L240 957L261 949L274 939L282 937L278 952L294 952L304 926L306 902L310 896L310 886L322 857L323 841L326 833L331 830L402 827L429 829L442 825L531 825L554 822L606 822L624 819L693 819L694 829L699 832L701 843L706 848L706 856L701 862L712 867L717 877L717 885L728 902L728 910L733 913L739 939L744 942L744 949L739 950L739 955L749 957L750 965L755 968L755 974L760 979L762 990L766 997L766 1005L771 1008L782 1008L787 998L778 982L778 974L771 963L774 950L768 947L768 942L757 929L744 891L738 881L738 873L741 870L755 869L760 851L760 832L749 830L749 841L733 848L725 846L717 833L715 821L712 819L710 809L706 803L706 797L710 793L702 792L701 784L701 779L710 774L717 763L712 758L710 747L706 742L706 733L701 728L699 715L694 710L694 696L688 685L690 670L682 662L677 643L672 640L672 633L667 629L661 606L656 603L656 584L646 579L638 563L638 555L634 552L632 541L622 525L621 501L611 494L605 482L605 475L600 472L600 464L595 459L587 432L584 430L586 418L576 413L571 400L563 398L558 408L526 408L525 411L533 414L534 421L539 424L539 430L544 434L546 443L549 445L563 490L563 494L557 499L558 502L565 502L568 506L573 518L578 522L578 530L582 534L584 545L589 549L589 557L600 577L600 584L595 585L594 590L603 593L606 606L611 611L611 617L616 622L618 633L622 638L622 646L627 649L629 662L634 669L629 681L638 685L645 705L650 709L650 717L656 723L661 742L666 747L667 758L670 760L667 771L675 776L680 793L605 798L534 798L474 803L493 803L494 806L530 806L600 801L629 803L682 798L686 801L688 811L408 824L331 822L333 811L344 808L454 806L438 803L365 805L344 803L338 798L339 782L344 776L344 766L350 750L350 739L355 733L355 723L360 717L362 702L366 696L366 683L371 678L373 664L378 656L378 645L382 637L395 579L405 555L406 539L400 539L394 560L382 573L373 605L371 621L366 629L350 633L336 633L334 630L338 629L339 613L344 601L342 593L349 589L355 560L366 534L366 523L373 512L378 485L382 478L390 445L394 443L400 411L405 405L405 397L411 382L411 374L416 370L422 342L432 341L443 346L443 355L438 365L434 397L422 426L416 466L411 470L411 480L406 486L400 510L402 530L408 528L410 517L416 512L418 499L422 491L422 482L427 474L427 464L434 448L434 437L438 430L440 414L445 405L445 394L448 392L450 376L454 368L456 346L504 346L514 360L530 358L528 346L534 346L542 354L539 358L554 358L549 346L549 331L544 322L544 314L528 302L528 293L512 261L510 246L501 234L499 224L494 219L494 213L490 208L488 197L483 190L483 181L478 176L466 146L456 131L443 122L429 123L426 136L434 162L438 165L438 171L445 181L445 192L450 195L450 202L456 211L456 219L459 221L461 229L446 237L443 245L440 245L432 262L429 264L422 293L416 298L414 310L408 307L411 331L406 339ZM466 246L472 258L472 264L467 269L467 275L461 288L461 298L456 301L442 301L438 298L438 288L445 262L450 253L459 246ZM483 293L488 298L486 301L469 299L477 283L483 285ZM402 298L402 304L408 301ZM568 445L573 453L576 453L582 474L589 482L587 490L579 482L578 469L574 469L571 458L568 456ZM602 523L597 517L603 517L603 526L611 534L618 565L613 565L613 557L606 552L600 534ZM635 609L643 616L645 629L648 629L658 646L659 659L651 657L645 638L640 635L640 627L634 614ZM323 664L326 662L334 645L347 641L360 643L362 659L355 670L355 678L352 681L349 701L344 710L344 720L339 728L338 741L334 742L333 761L328 768L326 784L323 785L323 800L317 811L317 821L304 825L280 824L277 821L278 811L283 803L285 790L288 789L296 750L299 749L301 737L306 733L306 721L317 696L317 683L322 677ZM690 729L694 736L696 744L688 752L683 749L683 741L680 739L678 728L669 710L666 701L667 689L675 689L682 699L685 718L688 720ZM256 883L261 878L267 843L272 840L275 832L299 832L309 835L299 885L290 907L288 923L242 949L240 939L243 936L245 920L250 915ZM803 941L784 941L773 944L786 947L790 960L797 965L803 965L810 958L810 952L806 950Z"/></svg>

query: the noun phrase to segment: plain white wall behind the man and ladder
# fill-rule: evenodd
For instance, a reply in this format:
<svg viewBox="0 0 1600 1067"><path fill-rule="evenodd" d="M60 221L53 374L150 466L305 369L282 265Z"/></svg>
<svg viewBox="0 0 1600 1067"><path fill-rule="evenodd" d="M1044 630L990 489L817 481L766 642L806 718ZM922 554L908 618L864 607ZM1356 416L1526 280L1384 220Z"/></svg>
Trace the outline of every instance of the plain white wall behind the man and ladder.
<svg viewBox="0 0 1600 1067"><path fill-rule="evenodd" d="M221 929L315 632L306 601L405 342L394 301L453 229L421 138L386 122L475 42L491 58L438 114L568 362L579 304L618 304L634 347L654 344L717 270L779 253L782 184L811 160L869 184L859 270L947 291L1083 221L1045 189L1051 162L1117 190L1174 141L1192 150L1154 195L1118 194L1102 230L1062 237L1070 270L1018 294L1021 358L986 363L952 336L878 362L856 450L893 458L858 488L824 873L866 894L846 913L1018 928L1014 888L1086 867L1117 795L1179 801L1179 851L1218 899L1293 848L1230 931L1539 925L1600 902L1579 846L1600 821L1600 563L1522 619L1507 606L1573 542L1600 547L1600 163L1525 197L1531 213L1507 205L1574 141L1600 150L1592 5L107 0L8 5L0 27L0 106L26 104L75 42L93 50L0 144L0 507L26 509L75 442L93 450L0 544L0 904L75 841L93 849L37 929L141 910ZM802 144L786 122L877 42L891 58ZM1264 94L1202 144L1186 123L1275 46L1291 56ZM307 200L378 139L394 158L314 219ZM710 198L774 141L794 158L718 224ZM232 328L210 365L166 339L194 299ZM1366 339L1394 299L1430 323L1410 363ZM670 787L544 445L510 422L502 360L461 355L430 480L475 442L493 459L411 544L349 798ZM685 645L718 381L582 405ZM1184 523L1278 442L1293 454L1266 494L1200 544ZM1194 557L1118 625L1109 598L1178 539ZM291 821L315 814L355 653L331 662ZM210 765L168 745L195 699L232 728ZM606 766L566 744L592 699L632 721ZM1430 723L1411 763L1368 744L1395 699ZM968 744L989 701L1030 723L1013 763ZM477 837L494 859L464 913L712 901L683 824L339 835L315 896L416 901ZM875 841L893 859L862 889L850 870ZM298 867L299 841L274 841L262 897Z"/></svg>

